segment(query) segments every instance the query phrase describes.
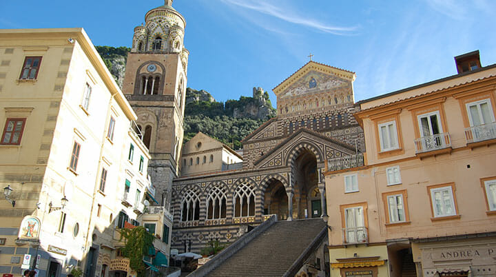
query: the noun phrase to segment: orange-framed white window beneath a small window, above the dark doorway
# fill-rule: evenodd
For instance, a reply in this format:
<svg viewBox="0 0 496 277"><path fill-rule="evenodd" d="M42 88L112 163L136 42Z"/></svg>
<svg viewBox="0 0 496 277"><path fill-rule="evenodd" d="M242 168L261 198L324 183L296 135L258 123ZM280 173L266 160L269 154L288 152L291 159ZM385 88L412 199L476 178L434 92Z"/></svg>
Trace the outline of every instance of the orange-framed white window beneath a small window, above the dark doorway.
<svg viewBox="0 0 496 277"><path fill-rule="evenodd" d="M397 192L382 194L386 223L409 222L408 205L406 203L406 189Z"/></svg>

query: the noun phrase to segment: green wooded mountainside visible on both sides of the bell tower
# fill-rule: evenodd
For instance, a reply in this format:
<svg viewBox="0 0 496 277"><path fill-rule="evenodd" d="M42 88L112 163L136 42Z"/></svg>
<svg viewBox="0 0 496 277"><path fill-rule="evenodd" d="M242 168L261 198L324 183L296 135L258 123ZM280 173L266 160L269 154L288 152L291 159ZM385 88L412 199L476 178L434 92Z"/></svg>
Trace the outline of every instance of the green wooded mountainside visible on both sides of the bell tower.
<svg viewBox="0 0 496 277"><path fill-rule="evenodd" d="M95 46L116 83L122 88L127 53L130 48ZM240 141L256 130L262 123L276 116L269 100L269 93L253 88L252 96L240 96L239 100L217 102L205 90L186 89L185 139L189 141L198 132L233 147L241 147Z"/></svg>

